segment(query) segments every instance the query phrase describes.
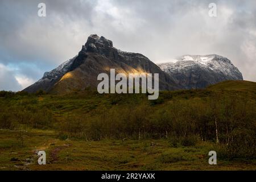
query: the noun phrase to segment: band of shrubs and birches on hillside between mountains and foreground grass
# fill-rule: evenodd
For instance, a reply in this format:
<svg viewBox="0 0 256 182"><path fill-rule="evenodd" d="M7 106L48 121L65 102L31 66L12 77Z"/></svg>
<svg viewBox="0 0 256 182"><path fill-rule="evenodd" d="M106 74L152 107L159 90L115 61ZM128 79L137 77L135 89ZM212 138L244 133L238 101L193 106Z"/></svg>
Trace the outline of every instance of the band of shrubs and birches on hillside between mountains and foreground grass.
<svg viewBox="0 0 256 182"><path fill-rule="evenodd" d="M174 148L203 141L214 143L220 158L255 159L255 85L228 81L164 91L154 101L146 94L92 89L65 95L0 92L0 128L55 130L63 140L163 139Z"/></svg>

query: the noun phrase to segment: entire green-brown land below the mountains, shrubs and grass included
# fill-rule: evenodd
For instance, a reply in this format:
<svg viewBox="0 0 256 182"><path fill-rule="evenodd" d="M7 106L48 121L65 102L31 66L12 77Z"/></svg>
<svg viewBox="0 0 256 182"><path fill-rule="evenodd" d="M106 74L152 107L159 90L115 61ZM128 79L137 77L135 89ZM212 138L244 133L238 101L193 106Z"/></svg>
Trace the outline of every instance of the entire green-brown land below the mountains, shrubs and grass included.
<svg viewBox="0 0 256 182"><path fill-rule="evenodd" d="M92 89L0 92L0 170L255 170L255 104L249 81L164 91L154 101ZM208 164L211 150L217 165Z"/></svg>

